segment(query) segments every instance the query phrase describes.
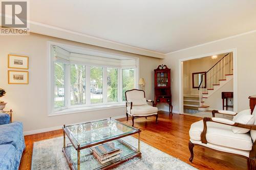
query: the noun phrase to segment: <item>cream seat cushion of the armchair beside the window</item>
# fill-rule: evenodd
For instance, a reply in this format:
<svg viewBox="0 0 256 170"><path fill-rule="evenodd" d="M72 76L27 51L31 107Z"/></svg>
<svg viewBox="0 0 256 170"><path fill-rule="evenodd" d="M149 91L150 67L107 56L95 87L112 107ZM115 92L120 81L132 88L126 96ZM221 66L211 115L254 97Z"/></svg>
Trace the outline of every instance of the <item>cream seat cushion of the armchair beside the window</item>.
<svg viewBox="0 0 256 170"><path fill-rule="evenodd" d="M130 109L131 107L127 107L127 111L132 115L151 114L158 111L157 107L150 105L133 106L132 110Z"/></svg>

